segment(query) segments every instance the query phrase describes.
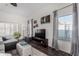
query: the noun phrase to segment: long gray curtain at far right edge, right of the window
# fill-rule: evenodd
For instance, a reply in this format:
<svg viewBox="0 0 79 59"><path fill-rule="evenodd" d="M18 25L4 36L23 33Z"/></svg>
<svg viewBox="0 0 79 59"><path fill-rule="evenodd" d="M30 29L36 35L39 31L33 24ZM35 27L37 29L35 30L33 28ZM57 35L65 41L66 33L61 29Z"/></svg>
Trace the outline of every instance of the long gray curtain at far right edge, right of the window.
<svg viewBox="0 0 79 59"><path fill-rule="evenodd" d="M78 14L77 4L73 4L73 29L72 29L72 47L71 54L79 55L79 38L78 38Z"/></svg>

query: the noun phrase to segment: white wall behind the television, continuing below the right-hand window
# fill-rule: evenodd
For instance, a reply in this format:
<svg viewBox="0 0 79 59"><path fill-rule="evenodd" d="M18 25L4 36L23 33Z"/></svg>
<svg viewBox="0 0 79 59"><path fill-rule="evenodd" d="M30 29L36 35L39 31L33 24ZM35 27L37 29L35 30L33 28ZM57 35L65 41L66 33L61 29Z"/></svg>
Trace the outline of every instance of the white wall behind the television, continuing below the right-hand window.
<svg viewBox="0 0 79 59"><path fill-rule="evenodd" d="M61 6L61 5L60 5ZM58 6L58 7L60 7ZM61 7L65 7L66 5L63 5ZM60 8L61 8L60 7ZM60 9L59 8L59 9ZM34 13L35 14L35 13ZM40 19L42 16L46 16L50 14L50 23L47 24L41 24ZM48 39L48 45L52 47L52 40L53 40L53 7L46 7L41 10L39 10L35 15L33 15L33 19L37 20L38 27L34 28L35 29L46 29L46 38ZM59 49L65 52L70 53L70 48L71 48L71 43L70 42L64 42L59 40L58 41Z"/></svg>

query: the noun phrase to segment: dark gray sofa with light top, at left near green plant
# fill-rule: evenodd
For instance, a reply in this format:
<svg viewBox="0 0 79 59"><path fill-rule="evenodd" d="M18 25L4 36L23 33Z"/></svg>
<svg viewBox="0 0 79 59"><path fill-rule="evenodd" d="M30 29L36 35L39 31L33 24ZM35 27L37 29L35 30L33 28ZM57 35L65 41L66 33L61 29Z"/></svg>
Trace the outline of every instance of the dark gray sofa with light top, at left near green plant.
<svg viewBox="0 0 79 59"><path fill-rule="evenodd" d="M15 39L13 36L3 36L2 39L5 46L5 51L16 49L17 39Z"/></svg>

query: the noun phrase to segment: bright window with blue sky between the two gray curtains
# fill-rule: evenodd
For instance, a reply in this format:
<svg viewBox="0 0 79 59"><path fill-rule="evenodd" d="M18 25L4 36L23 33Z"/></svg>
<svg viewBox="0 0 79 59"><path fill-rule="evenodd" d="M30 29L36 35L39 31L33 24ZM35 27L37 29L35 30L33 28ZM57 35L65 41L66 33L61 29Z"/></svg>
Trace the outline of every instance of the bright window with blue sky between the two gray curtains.
<svg viewBox="0 0 79 59"><path fill-rule="evenodd" d="M58 39L70 40L72 38L72 15L58 17Z"/></svg>

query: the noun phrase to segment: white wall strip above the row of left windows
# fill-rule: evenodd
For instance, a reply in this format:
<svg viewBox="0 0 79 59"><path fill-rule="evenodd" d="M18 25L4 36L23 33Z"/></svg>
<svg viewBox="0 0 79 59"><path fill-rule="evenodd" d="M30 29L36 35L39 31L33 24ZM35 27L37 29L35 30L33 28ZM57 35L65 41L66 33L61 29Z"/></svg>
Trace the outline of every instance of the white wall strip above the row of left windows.
<svg viewBox="0 0 79 59"><path fill-rule="evenodd" d="M0 11L0 22L24 23L25 17Z"/></svg>

